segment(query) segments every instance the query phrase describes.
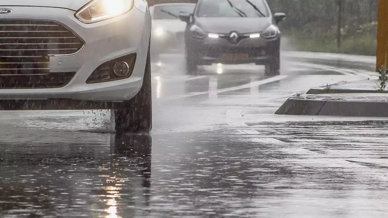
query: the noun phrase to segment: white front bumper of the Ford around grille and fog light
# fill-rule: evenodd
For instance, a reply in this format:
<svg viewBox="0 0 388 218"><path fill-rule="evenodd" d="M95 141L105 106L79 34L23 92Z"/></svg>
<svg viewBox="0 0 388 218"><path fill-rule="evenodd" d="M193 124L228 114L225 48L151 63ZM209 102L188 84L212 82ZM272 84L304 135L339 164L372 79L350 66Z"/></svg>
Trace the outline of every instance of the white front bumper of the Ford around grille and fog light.
<svg viewBox="0 0 388 218"><path fill-rule="evenodd" d="M61 8L7 7L11 14L4 19L39 19L57 21L74 31L85 46L74 55L51 56L50 73L76 72L61 88L0 89L0 99L76 99L123 101L129 100L142 86L149 48L151 21L147 13L136 7L127 14L84 24L74 17L74 11ZM90 74L102 63L127 54L137 54L132 76L127 79L87 84Z"/></svg>

